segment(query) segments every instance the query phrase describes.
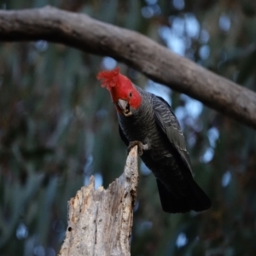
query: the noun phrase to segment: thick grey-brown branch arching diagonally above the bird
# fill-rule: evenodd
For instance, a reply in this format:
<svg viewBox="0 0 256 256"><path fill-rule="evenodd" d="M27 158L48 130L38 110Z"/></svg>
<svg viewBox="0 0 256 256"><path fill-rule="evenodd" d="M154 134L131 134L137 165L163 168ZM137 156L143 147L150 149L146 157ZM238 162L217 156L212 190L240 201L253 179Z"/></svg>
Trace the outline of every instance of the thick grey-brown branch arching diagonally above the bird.
<svg viewBox="0 0 256 256"><path fill-rule="evenodd" d="M160 84L183 92L256 128L256 93L196 65L143 35L55 8L0 10L0 40L44 39L123 61Z"/></svg>

